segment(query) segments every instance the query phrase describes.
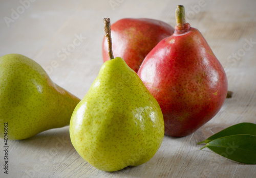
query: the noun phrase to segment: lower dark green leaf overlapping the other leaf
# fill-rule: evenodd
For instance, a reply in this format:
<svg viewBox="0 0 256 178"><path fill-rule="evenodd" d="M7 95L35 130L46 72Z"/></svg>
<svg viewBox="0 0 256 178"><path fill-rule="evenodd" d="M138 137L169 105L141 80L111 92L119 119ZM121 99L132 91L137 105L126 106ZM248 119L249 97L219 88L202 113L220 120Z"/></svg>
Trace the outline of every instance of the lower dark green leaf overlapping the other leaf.
<svg viewBox="0 0 256 178"><path fill-rule="evenodd" d="M207 143L201 149L205 147L230 160L256 164L256 136L254 135L239 134L221 137Z"/></svg>

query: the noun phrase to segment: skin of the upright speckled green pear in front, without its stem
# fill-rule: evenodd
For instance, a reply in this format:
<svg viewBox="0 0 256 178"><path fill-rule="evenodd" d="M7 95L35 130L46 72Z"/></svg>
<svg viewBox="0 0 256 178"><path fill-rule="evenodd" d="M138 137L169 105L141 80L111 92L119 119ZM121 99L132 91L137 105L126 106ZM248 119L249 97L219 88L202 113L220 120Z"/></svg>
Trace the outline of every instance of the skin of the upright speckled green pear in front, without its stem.
<svg viewBox="0 0 256 178"><path fill-rule="evenodd" d="M123 59L106 61L76 106L70 138L78 154L103 171L150 160L164 136L161 109Z"/></svg>

